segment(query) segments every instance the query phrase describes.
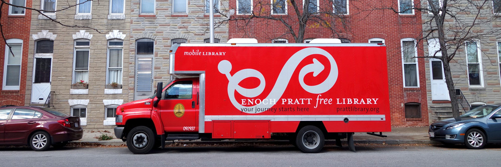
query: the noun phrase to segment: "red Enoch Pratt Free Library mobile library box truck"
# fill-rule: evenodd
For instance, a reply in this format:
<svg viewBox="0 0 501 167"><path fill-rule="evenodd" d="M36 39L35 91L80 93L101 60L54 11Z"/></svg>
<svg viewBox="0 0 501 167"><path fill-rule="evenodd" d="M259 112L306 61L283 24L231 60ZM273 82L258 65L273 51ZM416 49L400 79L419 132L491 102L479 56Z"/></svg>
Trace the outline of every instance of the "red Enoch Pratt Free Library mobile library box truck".
<svg viewBox="0 0 501 167"><path fill-rule="evenodd" d="M384 45L184 43L169 69L172 82L117 108L115 135L133 153L275 136L303 152L342 138L354 150L354 132L391 130Z"/></svg>

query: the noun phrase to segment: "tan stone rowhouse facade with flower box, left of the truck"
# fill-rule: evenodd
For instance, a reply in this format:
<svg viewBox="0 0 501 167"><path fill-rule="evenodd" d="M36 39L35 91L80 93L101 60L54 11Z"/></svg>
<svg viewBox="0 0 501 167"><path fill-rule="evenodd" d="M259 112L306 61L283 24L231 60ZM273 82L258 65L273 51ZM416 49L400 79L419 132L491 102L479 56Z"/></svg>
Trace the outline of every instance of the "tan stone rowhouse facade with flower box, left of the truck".
<svg viewBox="0 0 501 167"><path fill-rule="evenodd" d="M31 14L25 103L50 98L51 107L80 116L86 128L113 127L116 107L133 90L127 80L130 1L42 0L33 8L46 12Z"/></svg>

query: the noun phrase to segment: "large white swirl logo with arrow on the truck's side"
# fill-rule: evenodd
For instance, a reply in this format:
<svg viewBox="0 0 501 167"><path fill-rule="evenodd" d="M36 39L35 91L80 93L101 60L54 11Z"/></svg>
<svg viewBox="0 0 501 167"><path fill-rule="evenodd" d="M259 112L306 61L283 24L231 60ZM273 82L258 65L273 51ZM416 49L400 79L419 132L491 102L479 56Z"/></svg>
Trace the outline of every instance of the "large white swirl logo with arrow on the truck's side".
<svg viewBox="0 0 501 167"><path fill-rule="evenodd" d="M329 60L329 63L331 65L331 71L329 72L329 76L322 83L318 85L310 86L305 84L304 78L306 74L313 72L313 76L316 77L325 68L324 65L322 65L322 63L320 63L317 59L313 59L312 64L308 64L300 70L299 83L304 90L313 94L320 94L330 90L332 86L334 86L334 83L336 83L336 80L338 78L338 66L336 64L336 61L334 60L331 54L329 54L327 51L323 49L305 48L296 52L286 62L286 64L282 68L282 71L280 71L279 77L277 78L277 82L275 82L275 86L273 87L270 94L268 94L268 97L266 97L266 99L279 99L280 97L282 97L282 95L285 92L285 89L287 88L287 85L289 85L289 82L292 78L295 69L298 68L299 63L303 61L306 57L315 54L325 56ZM254 98L263 93L266 87L265 77L258 70L243 69L236 72L233 76L231 76L231 74L229 73L231 71L231 63L227 60L220 61L217 66L217 69L219 70L220 73L226 75L226 78L228 78L229 99L233 104L233 106L238 108L240 111L246 113L261 113L264 111L249 112L248 109L252 107L271 108L275 105L271 103L267 104L260 103L254 106L243 106L240 103L238 103L235 99L235 94L234 94L235 90L242 96L248 98ZM240 83L242 80L250 77L256 77L260 80L260 84L258 87L247 89L238 85L238 83Z"/></svg>

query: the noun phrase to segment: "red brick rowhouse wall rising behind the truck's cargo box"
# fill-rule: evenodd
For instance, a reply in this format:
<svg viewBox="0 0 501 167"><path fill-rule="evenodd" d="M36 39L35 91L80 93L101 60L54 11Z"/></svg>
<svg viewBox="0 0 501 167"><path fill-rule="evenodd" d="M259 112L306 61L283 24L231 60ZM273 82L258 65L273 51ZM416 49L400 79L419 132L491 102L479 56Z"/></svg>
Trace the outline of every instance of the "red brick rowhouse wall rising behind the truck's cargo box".
<svg viewBox="0 0 501 167"><path fill-rule="evenodd" d="M257 5L261 0L254 0L255 14L263 11L270 11L269 5L264 5L268 9L258 9ZM269 3L269 0L263 0L264 3ZM296 1L301 3L302 1ZM362 1L365 2L365 1ZM416 2L416 1L415 1ZM342 17L328 18L331 26L335 27L336 33L332 33L327 28L317 26L310 22L309 28L305 31L305 38L346 38L352 43L368 43L371 38L382 38L385 40L387 49L387 65L388 65L388 83L390 93L390 113L391 123L394 127L409 127L409 126L427 126L428 125L428 104L426 96L426 74L424 59L418 59L419 70L419 88L404 88L403 86L403 70L402 70L402 55L400 40L403 38L419 39L422 31L421 13L415 11L412 16L399 16L390 10L372 10L366 4L361 4L360 1L350 1L350 15ZM398 9L397 1L373 1L372 7L393 7ZM385 4L382 4L385 3ZM299 4L298 6L302 6ZM416 4L419 6L419 4ZM330 8L326 1L320 2L322 8ZM359 8L359 10L355 9ZM236 8L236 1L231 0L230 9ZM363 12L366 11L366 12ZM288 16L283 17L287 23L297 23L298 18L295 16L294 9L291 4L288 5ZM248 17L243 15L233 15L236 17ZM279 16L277 16L279 17ZM346 23L346 29L343 28L341 21ZM298 33L297 24L291 24L293 29ZM229 23L229 39L231 38L256 38L259 43L271 43L274 38L288 39L289 43L295 43L291 35L285 35L287 28L279 21L271 20L253 20L247 23L242 21L232 21ZM418 41L418 55L424 55L422 42ZM421 118L405 118L405 103L417 102L421 104Z"/></svg>

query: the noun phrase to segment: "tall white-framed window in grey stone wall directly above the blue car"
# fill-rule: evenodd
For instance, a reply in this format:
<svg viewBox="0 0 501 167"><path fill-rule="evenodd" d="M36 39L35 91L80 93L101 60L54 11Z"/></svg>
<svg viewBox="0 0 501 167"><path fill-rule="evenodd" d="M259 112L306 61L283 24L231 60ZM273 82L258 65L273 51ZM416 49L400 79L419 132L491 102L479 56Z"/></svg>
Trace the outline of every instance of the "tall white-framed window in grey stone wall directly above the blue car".
<svg viewBox="0 0 501 167"><path fill-rule="evenodd" d="M483 86L480 46L477 42L466 42L466 61L470 86Z"/></svg>

